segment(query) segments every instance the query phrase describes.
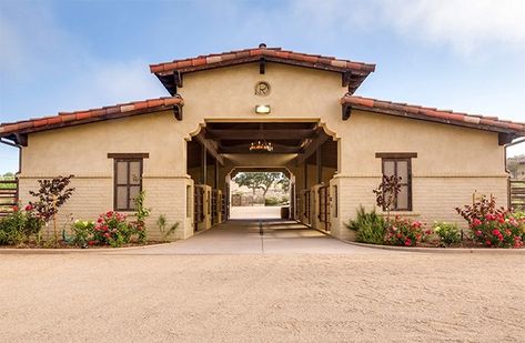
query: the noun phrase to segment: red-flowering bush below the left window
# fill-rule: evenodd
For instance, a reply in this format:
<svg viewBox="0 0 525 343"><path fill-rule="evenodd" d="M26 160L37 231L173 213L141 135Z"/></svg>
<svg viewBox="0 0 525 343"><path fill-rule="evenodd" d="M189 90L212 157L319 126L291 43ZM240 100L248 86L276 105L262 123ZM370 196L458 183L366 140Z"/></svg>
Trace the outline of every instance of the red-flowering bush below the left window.
<svg viewBox="0 0 525 343"><path fill-rule="evenodd" d="M109 211L102 213L94 224L93 235L88 245L105 244L121 246L130 242L133 229L125 221L125 215Z"/></svg>

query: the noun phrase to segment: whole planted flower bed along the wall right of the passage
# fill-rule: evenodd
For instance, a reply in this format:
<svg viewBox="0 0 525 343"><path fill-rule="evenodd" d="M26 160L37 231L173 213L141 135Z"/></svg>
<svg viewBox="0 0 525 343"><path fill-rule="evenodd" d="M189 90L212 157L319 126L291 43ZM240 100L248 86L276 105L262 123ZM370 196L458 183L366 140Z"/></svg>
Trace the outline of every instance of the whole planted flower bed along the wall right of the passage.
<svg viewBox="0 0 525 343"><path fill-rule="evenodd" d="M357 211L346 226L356 232L357 242L424 248L509 248L523 249L525 213L496 208L495 199L482 198L473 205L456 209L467 221L463 231L457 224L435 222L431 229L421 221L400 215L384 218L375 211Z"/></svg>

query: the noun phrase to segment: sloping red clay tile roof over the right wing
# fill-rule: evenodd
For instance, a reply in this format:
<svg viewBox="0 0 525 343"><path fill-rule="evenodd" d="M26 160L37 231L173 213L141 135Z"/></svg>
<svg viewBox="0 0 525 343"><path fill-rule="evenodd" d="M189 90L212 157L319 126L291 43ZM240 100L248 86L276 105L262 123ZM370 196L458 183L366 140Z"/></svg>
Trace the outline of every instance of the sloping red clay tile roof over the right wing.
<svg viewBox="0 0 525 343"><path fill-rule="evenodd" d="M497 117L460 113L451 110L438 110L435 108L425 108L415 104L391 102L349 94L341 99L341 104L391 115L408 117L487 131L525 135L525 123L501 120L497 119Z"/></svg>

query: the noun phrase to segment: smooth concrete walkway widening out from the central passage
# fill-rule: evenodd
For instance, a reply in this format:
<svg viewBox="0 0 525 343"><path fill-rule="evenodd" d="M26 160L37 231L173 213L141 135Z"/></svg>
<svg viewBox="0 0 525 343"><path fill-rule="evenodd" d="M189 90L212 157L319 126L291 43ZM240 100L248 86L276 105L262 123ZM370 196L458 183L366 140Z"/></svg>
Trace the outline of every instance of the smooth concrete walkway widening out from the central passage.
<svg viewBox="0 0 525 343"><path fill-rule="evenodd" d="M287 254L360 253L371 249L337 241L292 221L231 220L188 240L111 254ZM376 252L372 250L373 252Z"/></svg>

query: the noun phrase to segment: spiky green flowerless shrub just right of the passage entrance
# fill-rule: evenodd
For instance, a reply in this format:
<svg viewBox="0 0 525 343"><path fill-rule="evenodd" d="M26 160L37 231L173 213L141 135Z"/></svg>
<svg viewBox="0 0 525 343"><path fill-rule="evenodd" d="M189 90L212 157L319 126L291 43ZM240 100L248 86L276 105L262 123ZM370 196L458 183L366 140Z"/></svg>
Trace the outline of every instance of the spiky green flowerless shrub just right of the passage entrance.
<svg viewBox="0 0 525 343"><path fill-rule="evenodd" d="M355 240L363 243L384 244L386 221L373 210L366 213L363 206L357 209L357 216L346 228L355 231Z"/></svg>

